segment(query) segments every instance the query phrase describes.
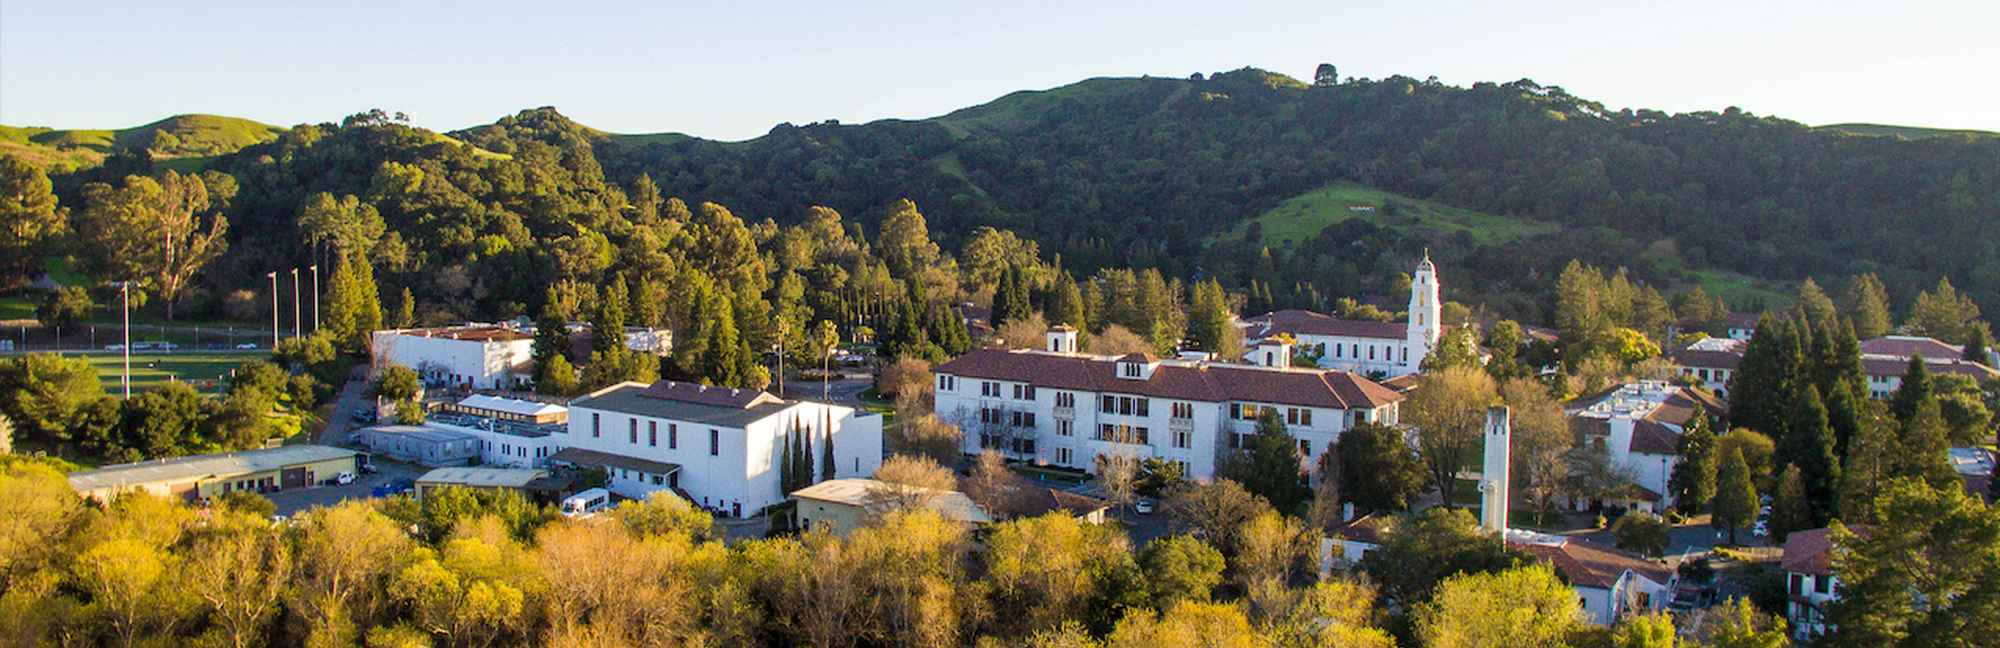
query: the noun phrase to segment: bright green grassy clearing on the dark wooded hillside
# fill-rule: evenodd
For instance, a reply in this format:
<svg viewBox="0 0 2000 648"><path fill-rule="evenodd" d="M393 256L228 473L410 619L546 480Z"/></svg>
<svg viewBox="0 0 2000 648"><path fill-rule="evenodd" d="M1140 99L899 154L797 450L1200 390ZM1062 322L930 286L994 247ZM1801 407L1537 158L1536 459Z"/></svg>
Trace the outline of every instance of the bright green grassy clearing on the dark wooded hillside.
<svg viewBox="0 0 2000 648"><path fill-rule="evenodd" d="M1394 208L1384 208L1394 202ZM1394 212L1394 214L1392 214ZM1362 218L1386 228L1466 232L1482 244L1518 240L1536 234L1556 232L1552 222L1496 216L1462 210L1430 200L1408 198L1368 186L1338 182L1308 194L1292 196L1254 222L1264 226L1264 242L1306 242L1330 224ZM1238 236L1242 228L1238 226Z"/></svg>

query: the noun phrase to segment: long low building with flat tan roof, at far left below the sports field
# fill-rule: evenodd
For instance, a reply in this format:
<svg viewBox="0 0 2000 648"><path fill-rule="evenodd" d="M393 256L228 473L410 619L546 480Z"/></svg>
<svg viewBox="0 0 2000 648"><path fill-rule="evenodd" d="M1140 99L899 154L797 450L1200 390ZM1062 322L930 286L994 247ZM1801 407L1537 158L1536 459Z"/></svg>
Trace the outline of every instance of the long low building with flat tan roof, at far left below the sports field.
<svg viewBox="0 0 2000 648"><path fill-rule="evenodd" d="M148 492L206 500L224 492L310 488L356 470L360 452L334 446L278 446L116 464L70 474L70 488L96 500Z"/></svg>

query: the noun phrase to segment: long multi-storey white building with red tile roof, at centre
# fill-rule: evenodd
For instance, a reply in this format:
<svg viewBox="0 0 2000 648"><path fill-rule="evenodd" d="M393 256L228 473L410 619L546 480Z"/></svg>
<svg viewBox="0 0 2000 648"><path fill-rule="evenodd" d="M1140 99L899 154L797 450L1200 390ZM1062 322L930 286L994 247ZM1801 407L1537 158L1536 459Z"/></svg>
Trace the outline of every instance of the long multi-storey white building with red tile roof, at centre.
<svg viewBox="0 0 2000 648"><path fill-rule="evenodd" d="M932 370L938 416L964 430L968 454L1088 472L1100 456L1160 458L1208 480L1262 410L1284 418L1312 466L1354 424L1394 424L1402 402L1354 372L1078 354L1062 326L1044 348L982 348Z"/></svg>

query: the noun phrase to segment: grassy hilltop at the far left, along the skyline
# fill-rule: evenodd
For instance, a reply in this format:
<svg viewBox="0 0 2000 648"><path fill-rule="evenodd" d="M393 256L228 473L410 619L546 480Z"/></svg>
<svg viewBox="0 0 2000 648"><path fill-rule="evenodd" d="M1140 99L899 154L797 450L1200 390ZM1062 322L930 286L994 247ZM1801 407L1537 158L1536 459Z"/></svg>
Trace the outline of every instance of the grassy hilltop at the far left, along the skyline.
<svg viewBox="0 0 2000 648"><path fill-rule="evenodd" d="M214 114L178 114L120 130L0 126L0 154L20 156L52 170L70 170L94 166L118 148L146 148L156 160L174 160L170 166L192 170L208 158L276 140L282 132L278 126Z"/></svg>

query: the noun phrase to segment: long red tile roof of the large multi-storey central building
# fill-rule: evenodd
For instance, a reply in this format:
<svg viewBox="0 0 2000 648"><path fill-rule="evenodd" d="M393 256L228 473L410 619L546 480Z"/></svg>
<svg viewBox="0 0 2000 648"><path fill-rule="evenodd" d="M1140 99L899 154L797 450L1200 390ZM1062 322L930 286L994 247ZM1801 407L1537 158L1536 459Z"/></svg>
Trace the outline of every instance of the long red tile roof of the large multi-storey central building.
<svg viewBox="0 0 2000 648"><path fill-rule="evenodd" d="M1136 380L1118 378L1114 364L1116 360L1096 356L980 348L940 364L934 372L1028 382L1058 390L1204 402L1246 400L1340 410L1378 408L1404 398L1374 380L1338 370L1160 362L1152 378Z"/></svg>

